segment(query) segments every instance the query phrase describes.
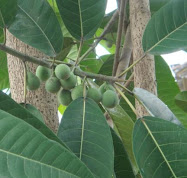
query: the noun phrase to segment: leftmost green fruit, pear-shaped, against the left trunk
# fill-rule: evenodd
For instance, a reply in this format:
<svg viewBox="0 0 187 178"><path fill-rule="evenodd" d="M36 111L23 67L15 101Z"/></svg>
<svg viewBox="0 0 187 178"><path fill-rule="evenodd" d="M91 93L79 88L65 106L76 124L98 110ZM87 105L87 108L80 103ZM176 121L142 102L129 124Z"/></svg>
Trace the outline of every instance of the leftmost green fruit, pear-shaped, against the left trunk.
<svg viewBox="0 0 187 178"><path fill-rule="evenodd" d="M29 90L36 90L40 87L39 78L34 75L32 72L27 72L27 88Z"/></svg>

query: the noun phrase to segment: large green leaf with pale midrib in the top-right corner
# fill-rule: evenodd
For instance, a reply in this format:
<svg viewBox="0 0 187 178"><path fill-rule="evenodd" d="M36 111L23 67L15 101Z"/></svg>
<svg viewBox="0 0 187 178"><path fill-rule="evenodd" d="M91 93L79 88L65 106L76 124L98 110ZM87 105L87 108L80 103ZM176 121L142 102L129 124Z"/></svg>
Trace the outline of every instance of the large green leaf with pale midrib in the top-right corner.
<svg viewBox="0 0 187 178"><path fill-rule="evenodd" d="M144 32L144 51L157 55L186 48L186 12L186 0L172 0L156 12Z"/></svg>

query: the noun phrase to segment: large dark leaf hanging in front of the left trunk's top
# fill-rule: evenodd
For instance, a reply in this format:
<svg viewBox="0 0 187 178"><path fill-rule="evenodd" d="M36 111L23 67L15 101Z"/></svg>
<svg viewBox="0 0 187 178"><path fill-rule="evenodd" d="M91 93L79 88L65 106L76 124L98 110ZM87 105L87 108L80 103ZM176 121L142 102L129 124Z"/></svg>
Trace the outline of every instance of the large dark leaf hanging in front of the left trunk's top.
<svg viewBox="0 0 187 178"><path fill-rule="evenodd" d="M58 19L45 0L18 0L18 12L9 31L24 43L48 56L62 49L63 36Z"/></svg>

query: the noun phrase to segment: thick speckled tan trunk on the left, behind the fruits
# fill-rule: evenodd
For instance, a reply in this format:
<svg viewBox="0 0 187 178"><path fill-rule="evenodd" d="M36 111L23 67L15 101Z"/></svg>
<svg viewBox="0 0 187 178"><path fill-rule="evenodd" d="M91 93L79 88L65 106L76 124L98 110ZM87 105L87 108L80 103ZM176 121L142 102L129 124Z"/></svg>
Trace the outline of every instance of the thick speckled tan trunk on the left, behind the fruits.
<svg viewBox="0 0 187 178"><path fill-rule="evenodd" d="M36 49L24 44L7 32L7 46L30 56L46 57ZM7 55L11 97L18 103L24 102L24 66L18 58ZM26 63L30 71L35 73L37 65ZM46 125L54 132L58 129L58 105L56 95L47 93L44 83L36 91L27 91L26 102L35 106L43 114Z"/></svg>

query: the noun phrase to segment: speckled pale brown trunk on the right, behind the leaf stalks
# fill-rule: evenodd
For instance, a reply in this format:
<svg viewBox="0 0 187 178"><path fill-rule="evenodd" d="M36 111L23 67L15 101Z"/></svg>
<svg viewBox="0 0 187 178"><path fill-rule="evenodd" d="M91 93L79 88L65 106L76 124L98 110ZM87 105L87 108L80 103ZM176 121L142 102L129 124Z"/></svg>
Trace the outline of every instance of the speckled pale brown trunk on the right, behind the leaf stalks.
<svg viewBox="0 0 187 178"><path fill-rule="evenodd" d="M142 37L145 27L151 17L149 0L130 0L130 25L133 44L134 62L143 56ZM134 67L134 86L157 94L155 63L152 55L146 55ZM136 102L138 116L149 115L138 102Z"/></svg>

